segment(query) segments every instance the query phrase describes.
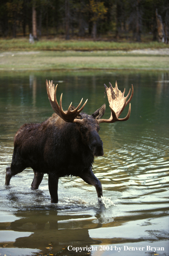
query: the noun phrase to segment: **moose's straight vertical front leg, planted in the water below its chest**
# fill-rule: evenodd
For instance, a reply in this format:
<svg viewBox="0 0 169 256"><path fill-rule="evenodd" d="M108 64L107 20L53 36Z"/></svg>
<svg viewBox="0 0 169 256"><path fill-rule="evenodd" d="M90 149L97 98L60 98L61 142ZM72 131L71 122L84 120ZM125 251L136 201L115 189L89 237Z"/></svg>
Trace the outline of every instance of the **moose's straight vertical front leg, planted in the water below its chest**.
<svg viewBox="0 0 169 256"><path fill-rule="evenodd" d="M51 203L58 203L58 179L49 173L48 186L51 197Z"/></svg>

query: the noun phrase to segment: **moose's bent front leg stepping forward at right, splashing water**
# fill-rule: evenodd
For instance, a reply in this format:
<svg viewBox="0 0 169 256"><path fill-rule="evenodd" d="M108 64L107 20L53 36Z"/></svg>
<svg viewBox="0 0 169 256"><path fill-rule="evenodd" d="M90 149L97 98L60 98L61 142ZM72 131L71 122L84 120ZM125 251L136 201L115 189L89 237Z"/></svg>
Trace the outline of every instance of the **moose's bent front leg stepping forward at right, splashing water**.
<svg viewBox="0 0 169 256"><path fill-rule="evenodd" d="M93 185L96 188L97 196L99 198L103 196L102 184L99 179L96 178L91 168L85 169L79 177L82 178L87 184Z"/></svg>

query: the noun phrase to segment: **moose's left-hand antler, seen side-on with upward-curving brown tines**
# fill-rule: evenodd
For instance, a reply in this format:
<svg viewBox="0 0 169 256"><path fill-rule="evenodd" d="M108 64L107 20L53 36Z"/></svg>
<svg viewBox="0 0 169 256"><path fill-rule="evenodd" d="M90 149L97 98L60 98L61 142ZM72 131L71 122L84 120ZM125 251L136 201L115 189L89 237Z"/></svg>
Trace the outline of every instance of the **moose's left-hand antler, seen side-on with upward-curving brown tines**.
<svg viewBox="0 0 169 256"><path fill-rule="evenodd" d="M55 87L55 84L53 84L53 81L50 82L49 84L48 81L46 80L46 86L47 86L47 95L50 100L50 105L52 106L53 110L55 111L56 114L58 114L59 117L61 117L64 121L69 122L69 123L82 123L82 119L76 119L76 117L79 115L79 113L82 111L82 109L85 107L87 100L85 103L82 105L82 107L79 109L83 98L81 99L81 102L77 106L77 108L71 110L72 102L70 103L70 106L68 110L65 112L62 108L62 93L60 97L60 103L58 105L57 99L56 99L56 90L57 86ZM79 110L78 110L79 109Z"/></svg>

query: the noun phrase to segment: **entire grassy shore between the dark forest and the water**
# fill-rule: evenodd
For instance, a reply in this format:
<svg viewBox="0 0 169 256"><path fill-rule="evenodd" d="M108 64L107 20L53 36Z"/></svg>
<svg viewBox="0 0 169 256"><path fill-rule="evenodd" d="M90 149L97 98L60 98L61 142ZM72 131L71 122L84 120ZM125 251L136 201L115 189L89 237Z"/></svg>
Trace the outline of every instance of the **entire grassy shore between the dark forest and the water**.
<svg viewBox="0 0 169 256"><path fill-rule="evenodd" d="M61 39L41 39L30 44L29 38L0 39L0 70L169 70L169 55L130 53L130 50L161 48L169 45Z"/></svg>

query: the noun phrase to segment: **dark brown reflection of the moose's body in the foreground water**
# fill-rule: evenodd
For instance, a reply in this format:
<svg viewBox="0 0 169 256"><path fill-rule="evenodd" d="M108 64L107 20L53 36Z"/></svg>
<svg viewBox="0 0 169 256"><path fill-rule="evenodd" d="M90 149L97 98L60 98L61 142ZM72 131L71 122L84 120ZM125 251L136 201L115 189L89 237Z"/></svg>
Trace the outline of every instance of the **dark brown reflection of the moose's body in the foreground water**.
<svg viewBox="0 0 169 256"><path fill-rule="evenodd" d="M17 214L20 217L20 214ZM47 211L32 210L21 213L22 219L11 223L11 229L14 231L29 230L32 234L29 237L19 237L13 244L15 247L26 244L29 248L41 248L52 245L54 251L61 250L67 244L79 244L85 247L90 244L98 244L100 241L90 238L88 230L97 228L100 224L90 222L93 218L85 215L74 215L70 218L69 215L57 215L57 211L50 209ZM25 220L26 219L26 220ZM82 230L83 229L83 232ZM23 246L24 247L24 246ZM48 251L48 250L46 250Z"/></svg>

